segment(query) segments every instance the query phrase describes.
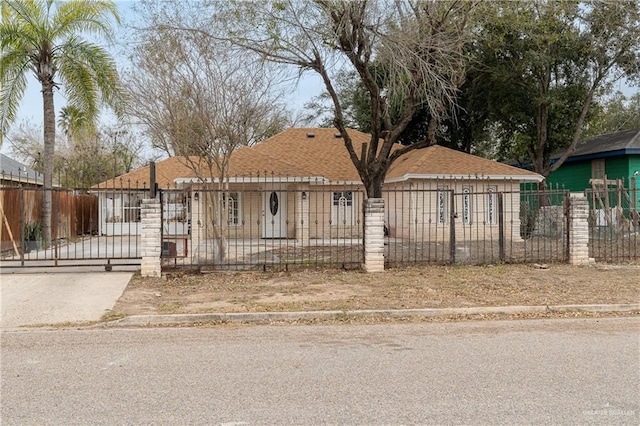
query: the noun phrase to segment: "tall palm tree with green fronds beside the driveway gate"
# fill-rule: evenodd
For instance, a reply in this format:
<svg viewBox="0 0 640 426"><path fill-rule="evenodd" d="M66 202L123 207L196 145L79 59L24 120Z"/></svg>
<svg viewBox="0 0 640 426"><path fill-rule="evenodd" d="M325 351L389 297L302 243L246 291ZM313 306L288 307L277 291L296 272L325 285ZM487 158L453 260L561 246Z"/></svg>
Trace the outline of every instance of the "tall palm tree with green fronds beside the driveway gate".
<svg viewBox="0 0 640 426"><path fill-rule="evenodd" d="M31 72L42 86L44 115L43 231L51 242L51 189L56 118L53 90L60 86L74 108L95 120L100 102L117 113L122 89L115 61L81 34L111 36L112 19L120 22L111 0L1 0L0 142L15 120Z"/></svg>

